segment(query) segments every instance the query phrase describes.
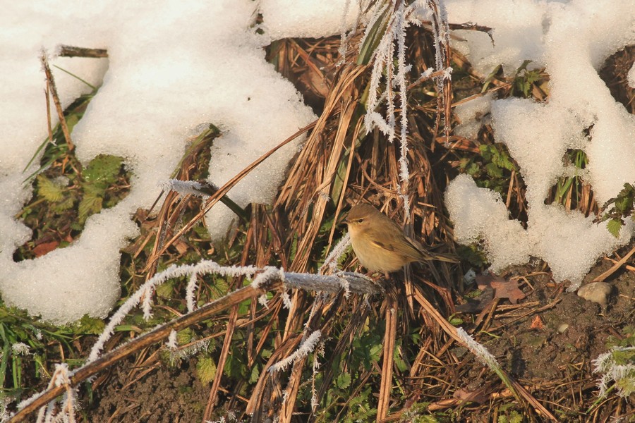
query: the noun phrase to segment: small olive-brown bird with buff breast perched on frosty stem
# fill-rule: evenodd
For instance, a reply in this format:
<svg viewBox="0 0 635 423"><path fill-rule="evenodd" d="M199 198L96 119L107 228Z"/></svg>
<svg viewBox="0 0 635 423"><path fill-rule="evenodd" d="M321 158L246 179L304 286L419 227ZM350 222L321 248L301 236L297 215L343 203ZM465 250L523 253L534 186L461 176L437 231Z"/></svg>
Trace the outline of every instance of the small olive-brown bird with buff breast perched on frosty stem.
<svg viewBox="0 0 635 423"><path fill-rule="evenodd" d="M408 263L428 260L458 262L447 255L425 251L420 243L404 235L397 223L370 204L353 206L344 223L349 226L357 259L370 271L388 274Z"/></svg>

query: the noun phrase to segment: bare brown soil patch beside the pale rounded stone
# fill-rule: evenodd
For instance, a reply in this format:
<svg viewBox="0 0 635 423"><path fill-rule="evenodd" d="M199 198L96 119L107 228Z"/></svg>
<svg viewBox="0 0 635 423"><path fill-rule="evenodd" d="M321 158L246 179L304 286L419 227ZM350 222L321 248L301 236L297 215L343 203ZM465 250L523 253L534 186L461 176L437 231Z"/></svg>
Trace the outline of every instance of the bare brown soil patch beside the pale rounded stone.
<svg viewBox="0 0 635 423"><path fill-rule="evenodd" d="M607 262L598 264L583 283L590 282L609 267ZM635 276L631 272L622 272L609 281L614 291L607 310L575 293L562 292L548 275L536 276L531 282L534 290L523 302L540 302L533 309L555 300L557 304L503 326L500 331L494 331L500 338L485 343L490 353L518 378L555 381L564 378L567 367L575 363L588 371L589 360L606 352L609 338L619 336L620 327L634 322ZM514 314L525 312L521 309ZM543 329L531 329L536 317L543 321ZM500 324L512 320L514 317L500 319Z"/></svg>

